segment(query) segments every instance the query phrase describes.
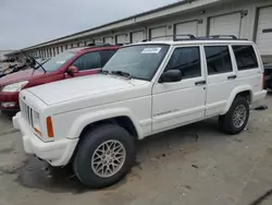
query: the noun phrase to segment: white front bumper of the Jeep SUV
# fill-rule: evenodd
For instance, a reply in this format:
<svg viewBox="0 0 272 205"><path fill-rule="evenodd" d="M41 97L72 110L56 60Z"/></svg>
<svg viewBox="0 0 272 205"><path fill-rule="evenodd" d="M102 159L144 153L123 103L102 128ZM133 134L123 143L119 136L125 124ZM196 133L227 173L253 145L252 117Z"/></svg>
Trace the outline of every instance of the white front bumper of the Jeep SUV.
<svg viewBox="0 0 272 205"><path fill-rule="evenodd" d="M24 149L27 154L34 154L54 167L69 164L78 142L78 138L64 138L49 143L42 142L33 133L29 124L22 118L21 112L13 117L13 126L21 131Z"/></svg>

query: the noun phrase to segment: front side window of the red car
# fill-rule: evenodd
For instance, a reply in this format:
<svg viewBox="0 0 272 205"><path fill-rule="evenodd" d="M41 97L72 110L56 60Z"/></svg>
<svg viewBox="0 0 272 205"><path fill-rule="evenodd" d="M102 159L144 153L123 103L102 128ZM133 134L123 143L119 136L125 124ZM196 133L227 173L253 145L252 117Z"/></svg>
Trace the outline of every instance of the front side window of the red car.
<svg viewBox="0 0 272 205"><path fill-rule="evenodd" d="M98 52L88 52L76 59L73 65L75 65L78 71L99 69L101 68L100 56Z"/></svg>

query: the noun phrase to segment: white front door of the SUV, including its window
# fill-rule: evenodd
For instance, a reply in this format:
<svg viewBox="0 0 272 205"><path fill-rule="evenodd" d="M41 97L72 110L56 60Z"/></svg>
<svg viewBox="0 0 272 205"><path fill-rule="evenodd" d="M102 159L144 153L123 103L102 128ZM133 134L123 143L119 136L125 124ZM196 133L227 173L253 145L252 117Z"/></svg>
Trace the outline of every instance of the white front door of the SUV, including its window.
<svg viewBox="0 0 272 205"><path fill-rule="evenodd" d="M152 92L152 131L187 124L205 117L206 77L199 46L176 47L165 68L180 70L182 81L159 83Z"/></svg>

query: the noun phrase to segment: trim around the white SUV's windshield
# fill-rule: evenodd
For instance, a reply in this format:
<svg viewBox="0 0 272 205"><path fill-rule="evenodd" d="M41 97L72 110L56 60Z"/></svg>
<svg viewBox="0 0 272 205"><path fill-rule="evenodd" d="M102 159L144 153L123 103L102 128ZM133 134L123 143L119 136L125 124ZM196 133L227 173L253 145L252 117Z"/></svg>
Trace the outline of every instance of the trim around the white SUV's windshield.
<svg viewBox="0 0 272 205"><path fill-rule="evenodd" d="M131 79L151 82L153 80L156 73L158 72L159 68L161 67L161 63L163 62L163 60L168 56L169 49L170 49L170 45L169 44L160 44L160 43L159 44L134 44L134 45L127 45L127 46L121 47L119 50L122 50L124 48L129 48L129 47L137 47L137 46L164 46L166 48L164 56L160 59L160 61L158 61L158 67L154 69L153 73L150 75L149 79L134 76L134 75L132 75L129 73L131 74ZM104 70L104 69L102 68L102 70ZM106 71L108 71L108 70L106 70ZM111 74L111 72L109 74Z"/></svg>

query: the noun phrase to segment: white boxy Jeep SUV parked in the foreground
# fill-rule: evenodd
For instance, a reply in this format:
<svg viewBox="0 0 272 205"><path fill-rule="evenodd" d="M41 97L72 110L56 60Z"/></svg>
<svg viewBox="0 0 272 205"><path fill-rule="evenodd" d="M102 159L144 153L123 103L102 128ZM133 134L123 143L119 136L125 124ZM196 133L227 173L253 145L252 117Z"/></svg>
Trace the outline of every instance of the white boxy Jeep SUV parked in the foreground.
<svg viewBox="0 0 272 205"><path fill-rule="evenodd" d="M265 95L252 41L146 41L121 48L100 74L22 91L13 124L26 153L103 188L134 165L135 140L212 117L237 134Z"/></svg>

